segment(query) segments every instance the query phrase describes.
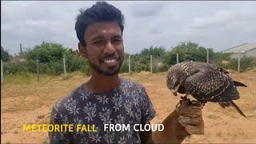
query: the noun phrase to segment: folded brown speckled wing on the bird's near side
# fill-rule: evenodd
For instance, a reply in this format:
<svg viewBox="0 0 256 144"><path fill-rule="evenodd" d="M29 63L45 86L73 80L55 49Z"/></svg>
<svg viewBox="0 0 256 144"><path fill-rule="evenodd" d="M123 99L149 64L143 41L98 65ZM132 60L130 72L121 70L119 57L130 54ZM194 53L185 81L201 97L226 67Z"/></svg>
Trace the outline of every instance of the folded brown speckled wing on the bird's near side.
<svg viewBox="0 0 256 144"><path fill-rule="evenodd" d="M218 70L201 70L186 79L184 86L198 101L209 101L230 86L230 78Z"/></svg>

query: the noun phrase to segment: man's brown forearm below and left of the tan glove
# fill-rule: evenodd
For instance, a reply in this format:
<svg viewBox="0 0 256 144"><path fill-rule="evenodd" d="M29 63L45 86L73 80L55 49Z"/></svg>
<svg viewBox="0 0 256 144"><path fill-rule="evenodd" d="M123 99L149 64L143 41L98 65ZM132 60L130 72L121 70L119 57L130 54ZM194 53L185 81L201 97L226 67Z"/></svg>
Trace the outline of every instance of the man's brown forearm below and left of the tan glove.
<svg viewBox="0 0 256 144"><path fill-rule="evenodd" d="M185 128L178 123L178 114L174 110L163 122L163 131L154 131L152 140L154 143L182 143L188 135ZM152 143L148 141L149 143Z"/></svg>

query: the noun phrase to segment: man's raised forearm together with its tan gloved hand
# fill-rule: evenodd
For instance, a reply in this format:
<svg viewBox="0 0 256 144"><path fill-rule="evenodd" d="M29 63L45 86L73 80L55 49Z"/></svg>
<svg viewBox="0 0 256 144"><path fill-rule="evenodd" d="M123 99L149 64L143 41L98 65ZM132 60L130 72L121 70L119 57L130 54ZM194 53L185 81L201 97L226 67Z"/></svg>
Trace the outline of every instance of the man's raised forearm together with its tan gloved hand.
<svg viewBox="0 0 256 144"><path fill-rule="evenodd" d="M182 143L190 134L204 134L202 109L182 103L162 122L163 131L154 131L154 143Z"/></svg>

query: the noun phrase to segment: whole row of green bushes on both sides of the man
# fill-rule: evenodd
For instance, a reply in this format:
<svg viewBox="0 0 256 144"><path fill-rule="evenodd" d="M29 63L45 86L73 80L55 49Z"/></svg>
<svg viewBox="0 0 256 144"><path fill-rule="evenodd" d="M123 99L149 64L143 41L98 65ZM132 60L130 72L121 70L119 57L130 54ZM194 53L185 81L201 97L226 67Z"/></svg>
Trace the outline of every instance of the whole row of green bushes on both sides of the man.
<svg viewBox="0 0 256 144"><path fill-rule="evenodd" d="M174 46L170 51L167 51L162 46L150 46L149 48L144 48L138 54L125 53L125 58L122 62L119 73L129 72L129 56L131 71L138 73L142 70L150 71L150 55L152 55L153 72L158 73L165 72L170 68L170 66L176 64L176 54L179 56L179 62L206 62L207 50L209 50L210 63L213 63L214 65L224 69L237 70L238 60L231 59L230 54L214 52L212 48L199 46L194 42L182 42L178 46ZM4 50L1 47L1 52L2 51ZM5 62L3 66L5 74L36 74L37 59L39 60L40 74L63 74L63 58L65 58L66 72L71 73L74 71L81 71L86 75L90 75L90 64L87 60L80 56L78 50L66 48L58 43L42 42L41 45L34 46L32 49L25 50L23 54L24 58L26 58L26 61L20 62L14 59L12 62L6 62L7 59L4 60ZM6 55L9 58L8 53ZM3 56L1 55L1 57ZM255 66L255 58L241 59L242 71L249 70Z"/></svg>

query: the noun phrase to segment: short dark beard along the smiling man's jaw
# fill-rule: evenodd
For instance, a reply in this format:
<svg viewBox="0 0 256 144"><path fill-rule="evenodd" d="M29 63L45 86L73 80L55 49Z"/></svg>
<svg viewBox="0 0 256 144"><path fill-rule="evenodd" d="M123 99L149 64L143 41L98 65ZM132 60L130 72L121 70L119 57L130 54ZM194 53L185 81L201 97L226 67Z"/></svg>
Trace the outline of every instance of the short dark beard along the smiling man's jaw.
<svg viewBox="0 0 256 144"><path fill-rule="evenodd" d="M109 68L109 70L102 70L99 66L96 66L96 65L94 65L94 63L90 62L89 58L88 58L88 62L90 64L90 67L92 67L99 74L102 74L102 75L105 75L105 76L112 76L114 74L118 74L118 72L119 72L119 70L122 66L123 60L120 62L119 66L118 66L118 69L116 69L116 67L113 67L113 68Z"/></svg>

